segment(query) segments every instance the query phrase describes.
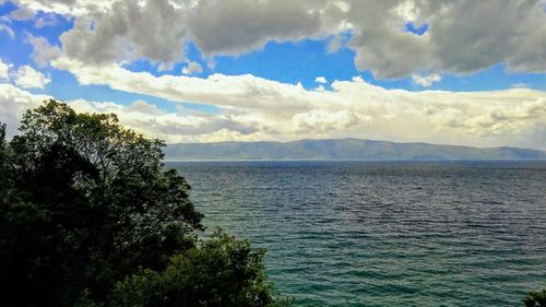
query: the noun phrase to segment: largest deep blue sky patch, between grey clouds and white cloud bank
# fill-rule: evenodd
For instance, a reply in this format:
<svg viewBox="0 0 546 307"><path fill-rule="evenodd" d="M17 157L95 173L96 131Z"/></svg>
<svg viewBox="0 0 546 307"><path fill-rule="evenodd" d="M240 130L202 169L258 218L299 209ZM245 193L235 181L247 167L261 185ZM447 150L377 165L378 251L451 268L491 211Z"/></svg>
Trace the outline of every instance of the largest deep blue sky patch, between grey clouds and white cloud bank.
<svg viewBox="0 0 546 307"><path fill-rule="evenodd" d="M203 71L193 76L207 78L214 73L226 75L252 74L282 83L297 84L313 90L319 83L317 76L324 76L329 82L334 80L352 80L361 75L372 81L370 72L358 71L354 64L355 52L349 48L340 48L336 52L328 52L331 38L317 40L304 39L297 43L270 42L263 49L246 52L239 56L216 56L215 66L210 68L202 54L190 43L186 46L188 60L198 62ZM157 64L147 60L136 60L126 66L134 72L147 71L154 75L180 75L187 63L177 63L170 70L159 71ZM382 81L395 86L397 81Z"/></svg>

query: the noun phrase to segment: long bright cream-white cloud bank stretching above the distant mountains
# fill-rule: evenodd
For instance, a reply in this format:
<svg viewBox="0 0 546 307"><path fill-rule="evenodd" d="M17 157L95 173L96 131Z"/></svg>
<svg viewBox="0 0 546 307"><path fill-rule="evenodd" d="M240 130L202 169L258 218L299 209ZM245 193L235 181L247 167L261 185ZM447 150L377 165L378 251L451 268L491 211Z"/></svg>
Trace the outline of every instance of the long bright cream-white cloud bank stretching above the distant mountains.
<svg viewBox="0 0 546 307"><path fill-rule="evenodd" d="M191 115L181 121L185 123L168 121L168 126L157 130L167 140L219 140L222 135L229 140L281 141L354 137L491 146L546 145L538 142L536 132L546 122L546 93L529 88L410 92L385 90L354 78L332 82L332 90L306 90L300 84L250 74L213 74L205 79L154 76L66 58L54 61L54 67L71 71L85 85L106 85L221 108L221 115Z"/></svg>

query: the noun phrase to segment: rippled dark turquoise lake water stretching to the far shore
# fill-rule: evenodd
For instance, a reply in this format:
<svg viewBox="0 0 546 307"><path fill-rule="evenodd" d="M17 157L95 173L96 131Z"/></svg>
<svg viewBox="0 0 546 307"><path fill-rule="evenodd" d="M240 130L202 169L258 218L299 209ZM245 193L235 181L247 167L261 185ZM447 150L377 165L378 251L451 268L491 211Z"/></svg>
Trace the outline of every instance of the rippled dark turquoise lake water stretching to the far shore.
<svg viewBox="0 0 546 307"><path fill-rule="evenodd" d="M297 306L522 306L546 286L545 162L167 166Z"/></svg>

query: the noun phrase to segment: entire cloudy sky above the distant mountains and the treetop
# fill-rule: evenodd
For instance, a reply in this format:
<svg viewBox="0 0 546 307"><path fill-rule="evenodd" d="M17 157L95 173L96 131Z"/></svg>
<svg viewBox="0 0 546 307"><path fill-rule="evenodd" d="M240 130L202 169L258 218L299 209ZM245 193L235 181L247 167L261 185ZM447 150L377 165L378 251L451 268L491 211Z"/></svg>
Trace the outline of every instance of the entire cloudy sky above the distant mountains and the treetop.
<svg viewBox="0 0 546 307"><path fill-rule="evenodd" d="M0 122L546 150L546 0L0 0Z"/></svg>

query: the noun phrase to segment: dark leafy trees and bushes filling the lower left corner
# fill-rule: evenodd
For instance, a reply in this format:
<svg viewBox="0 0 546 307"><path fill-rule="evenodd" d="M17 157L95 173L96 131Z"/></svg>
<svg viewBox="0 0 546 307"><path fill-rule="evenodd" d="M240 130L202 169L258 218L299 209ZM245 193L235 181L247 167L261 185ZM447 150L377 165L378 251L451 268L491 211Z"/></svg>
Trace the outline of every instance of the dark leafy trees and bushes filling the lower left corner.
<svg viewBox="0 0 546 307"><path fill-rule="evenodd" d="M56 101L0 128L1 306L277 306L263 250L210 239L164 143Z"/></svg>

